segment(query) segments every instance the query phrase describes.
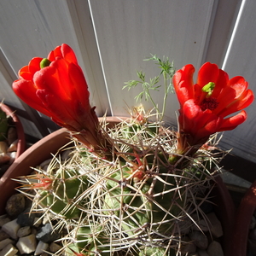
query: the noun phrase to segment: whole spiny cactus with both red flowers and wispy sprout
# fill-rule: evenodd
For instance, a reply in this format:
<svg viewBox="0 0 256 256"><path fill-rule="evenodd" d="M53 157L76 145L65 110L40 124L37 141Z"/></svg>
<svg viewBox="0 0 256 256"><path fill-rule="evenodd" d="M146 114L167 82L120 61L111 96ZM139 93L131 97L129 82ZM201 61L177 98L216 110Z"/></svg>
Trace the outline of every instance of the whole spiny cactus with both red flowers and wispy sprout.
<svg viewBox="0 0 256 256"><path fill-rule="evenodd" d="M152 59L160 65L160 75L146 83L138 73L139 80L126 86L142 83L154 113L134 108L131 119L113 125L99 121L90 107L84 75L67 44L47 59L32 59L13 84L17 96L67 128L74 141L69 160L55 158L47 171L39 169L25 184L36 190L33 205L43 207L56 227L67 227L62 239L69 253L180 255L193 243L184 233L188 226L201 229L201 219L211 225L202 205L212 199L219 172L218 140L212 134L245 121L243 110L227 116L253 102L253 92L243 78L229 79L209 62L193 84L192 65L174 74L168 60ZM161 111L149 93L160 76L166 92ZM180 102L178 131L163 122L172 80Z"/></svg>

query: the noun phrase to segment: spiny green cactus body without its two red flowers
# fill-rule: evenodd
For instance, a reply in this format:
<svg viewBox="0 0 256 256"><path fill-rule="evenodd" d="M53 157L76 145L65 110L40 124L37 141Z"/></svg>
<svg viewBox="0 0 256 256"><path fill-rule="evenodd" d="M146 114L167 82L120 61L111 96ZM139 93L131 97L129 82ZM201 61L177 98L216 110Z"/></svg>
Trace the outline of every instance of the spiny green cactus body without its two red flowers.
<svg viewBox="0 0 256 256"><path fill-rule="evenodd" d="M198 205L206 200L201 190L212 178L211 153L201 150L180 169L169 160L175 133L160 122L104 129L113 159L77 143L65 163L55 158L30 177L34 210L43 207L58 220L56 228L67 227L64 247L71 255L175 255L183 221L201 214Z"/></svg>

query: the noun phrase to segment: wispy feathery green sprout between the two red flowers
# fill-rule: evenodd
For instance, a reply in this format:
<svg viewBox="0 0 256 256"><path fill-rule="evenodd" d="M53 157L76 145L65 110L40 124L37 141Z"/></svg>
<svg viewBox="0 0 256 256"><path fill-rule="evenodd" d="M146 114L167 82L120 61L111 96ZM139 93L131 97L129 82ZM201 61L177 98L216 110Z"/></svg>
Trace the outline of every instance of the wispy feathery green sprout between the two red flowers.
<svg viewBox="0 0 256 256"><path fill-rule="evenodd" d="M173 67L173 62L171 63L169 61L169 58L165 56L163 57L163 60L161 60L156 55L151 55L150 58L145 59L144 61L156 61L155 64L160 68L160 73L154 78L150 78L148 82L145 78L145 73L143 73L142 71L137 71L138 80L130 80L126 82L123 89L126 88L130 90L131 88L136 87L137 84L141 84L143 90L135 97L136 101L140 101L144 97L146 101L152 102L161 120L163 119L164 113L166 111L167 96L170 92L174 92L172 77L173 77L173 74L175 73L175 68ZM160 90L160 87L162 86L162 84L159 84L161 78L163 79L163 82L164 82L164 100L163 100L162 109L160 111L158 104L154 102L154 99L151 95L151 91Z"/></svg>

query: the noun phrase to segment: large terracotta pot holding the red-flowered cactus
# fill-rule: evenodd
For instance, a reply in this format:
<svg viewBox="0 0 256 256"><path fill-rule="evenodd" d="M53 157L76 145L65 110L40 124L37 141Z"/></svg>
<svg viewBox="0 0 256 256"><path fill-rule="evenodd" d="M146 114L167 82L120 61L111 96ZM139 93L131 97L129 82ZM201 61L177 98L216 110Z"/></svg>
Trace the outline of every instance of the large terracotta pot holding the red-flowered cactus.
<svg viewBox="0 0 256 256"><path fill-rule="evenodd" d="M119 118L108 118L111 125L119 123ZM55 154L59 148L69 142L69 134L66 129L60 129L44 137L38 143L28 148L15 163L9 168L0 181L0 214L4 212L4 206L9 196L15 193L17 183L11 178L28 175L31 172L31 166L37 166L44 160L49 159L51 154ZM230 254L230 236L232 234L235 207L228 189L225 187L221 177L215 178L216 185L212 189L211 198L215 206L215 212L223 224L224 237L223 247L224 255Z"/></svg>

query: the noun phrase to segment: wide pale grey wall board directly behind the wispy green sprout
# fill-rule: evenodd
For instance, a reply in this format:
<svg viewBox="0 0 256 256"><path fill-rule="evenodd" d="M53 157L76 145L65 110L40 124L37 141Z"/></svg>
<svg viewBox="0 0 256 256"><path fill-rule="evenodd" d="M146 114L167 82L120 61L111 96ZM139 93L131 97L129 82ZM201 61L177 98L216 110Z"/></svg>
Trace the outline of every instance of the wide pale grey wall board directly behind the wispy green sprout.
<svg viewBox="0 0 256 256"><path fill-rule="evenodd" d="M150 54L168 56L177 68L188 63L200 67L207 38L211 32L215 1L89 1L102 69L113 115L127 115L126 104L135 105L141 91L122 90L124 82L137 79L143 70L146 78L154 77L159 68L143 59ZM163 90L154 93L155 102L163 102ZM143 102L151 108L148 102ZM171 95L166 118L176 123L178 104Z"/></svg>

